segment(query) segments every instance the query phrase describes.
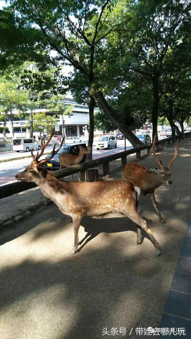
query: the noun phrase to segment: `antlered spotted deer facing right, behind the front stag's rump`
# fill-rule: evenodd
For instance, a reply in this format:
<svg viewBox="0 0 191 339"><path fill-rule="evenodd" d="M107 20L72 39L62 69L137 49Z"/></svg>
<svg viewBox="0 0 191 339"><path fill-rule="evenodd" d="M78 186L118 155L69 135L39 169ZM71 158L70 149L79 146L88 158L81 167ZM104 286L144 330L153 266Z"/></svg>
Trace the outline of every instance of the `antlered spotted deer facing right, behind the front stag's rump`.
<svg viewBox="0 0 191 339"><path fill-rule="evenodd" d="M149 194L152 205L157 211L159 220L161 223L165 223L161 213L159 212L157 202L154 196L154 191L161 184L166 183L167 185L172 184L171 176L171 166L178 154L178 142L175 142L175 154L173 159L169 162L168 166L165 167L162 165L161 160L159 160L154 152L154 147L156 143L157 134L154 136L152 144L152 152L154 158L158 161L160 168L145 168L139 163L130 162L125 165L123 170L122 178L128 182L131 182L134 186L138 186L141 190L141 194ZM138 201L137 201L138 206ZM141 229L137 227L137 244L141 243Z"/></svg>

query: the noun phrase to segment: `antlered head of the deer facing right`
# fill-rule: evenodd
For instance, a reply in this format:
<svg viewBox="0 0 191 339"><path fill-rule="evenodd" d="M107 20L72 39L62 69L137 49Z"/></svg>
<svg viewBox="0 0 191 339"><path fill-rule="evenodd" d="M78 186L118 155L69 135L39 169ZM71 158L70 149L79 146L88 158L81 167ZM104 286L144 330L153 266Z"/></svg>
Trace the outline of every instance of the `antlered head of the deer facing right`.
<svg viewBox="0 0 191 339"><path fill-rule="evenodd" d="M157 176L160 176L161 182L166 182L167 185L170 185L170 184L172 184L172 180L170 178L170 176L171 176L171 166L172 166L172 164L173 164L173 162L176 159L177 154L178 154L178 141L176 141L174 143L174 147L175 147L174 157L169 162L168 166L165 167L165 166L163 166L162 161L157 158L157 156L154 152L156 137L157 137L157 133L154 136L154 140L153 140L153 144L152 144L152 152L153 152L154 158L158 161L160 168L149 168L149 169L150 169L150 171L155 172Z"/></svg>

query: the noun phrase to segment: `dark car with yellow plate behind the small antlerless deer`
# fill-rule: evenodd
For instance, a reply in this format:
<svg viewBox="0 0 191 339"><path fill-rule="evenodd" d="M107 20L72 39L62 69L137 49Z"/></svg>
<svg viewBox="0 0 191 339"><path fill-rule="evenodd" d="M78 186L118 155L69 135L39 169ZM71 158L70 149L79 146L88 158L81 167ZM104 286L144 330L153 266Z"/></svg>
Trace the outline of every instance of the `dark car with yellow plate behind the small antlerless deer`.
<svg viewBox="0 0 191 339"><path fill-rule="evenodd" d="M79 153L78 145L80 145L81 147L87 148L86 144L82 144L82 143L79 143L79 144L75 143L75 144L71 144L71 145L70 144L63 145L61 147L61 149L59 150L59 152L56 153L52 159L45 162L44 167L47 168L47 169L53 169L54 171L56 169L59 169L60 168L60 162L59 162L59 158L58 158L59 155L61 153L64 153L64 152L78 155L78 153ZM55 147L55 151L56 151L56 149L58 149L58 147L59 146ZM49 156L50 156L50 154L47 155L46 158L48 158ZM85 159L86 159L86 154L84 155L83 160L81 162L85 162Z"/></svg>

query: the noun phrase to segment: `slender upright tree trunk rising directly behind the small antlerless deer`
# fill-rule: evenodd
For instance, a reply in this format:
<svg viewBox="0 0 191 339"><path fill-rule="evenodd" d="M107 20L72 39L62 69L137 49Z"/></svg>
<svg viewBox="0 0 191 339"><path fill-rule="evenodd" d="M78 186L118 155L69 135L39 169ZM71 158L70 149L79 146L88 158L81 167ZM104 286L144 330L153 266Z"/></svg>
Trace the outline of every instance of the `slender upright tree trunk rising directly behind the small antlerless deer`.
<svg viewBox="0 0 191 339"><path fill-rule="evenodd" d="M89 139L88 139L88 150L89 154L86 155L86 161L92 160L92 145L94 140L94 107L95 107L95 90L93 84L90 87L90 102L89 102Z"/></svg>

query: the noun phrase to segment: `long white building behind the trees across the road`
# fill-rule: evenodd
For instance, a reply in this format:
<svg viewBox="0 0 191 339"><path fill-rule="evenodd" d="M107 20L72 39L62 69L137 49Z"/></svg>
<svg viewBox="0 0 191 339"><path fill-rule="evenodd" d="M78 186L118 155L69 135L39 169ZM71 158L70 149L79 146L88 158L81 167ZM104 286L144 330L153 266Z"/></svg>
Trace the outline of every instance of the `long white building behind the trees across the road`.
<svg viewBox="0 0 191 339"><path fill-rule="evenodd" d="M70 115L59 115L58 125L59 131L55 132L55 135L63 135L63 118L64 118L64 133L66 136L79 136L79 135L88 135L88 122L89 122L89 107L87 105L81 105L76 103L73 99L65 99L65 103L68 105L75 105L73 108L73 112ZM95 111L98 109L95 108ZM34 113L37 112L46 112L47 115L53 115L53 113L49 112L47 109L40 107L33 111ZM13 115L17 114L17 111L13 112ZM29 112L27 112L29 113ZM6 137L8 139L13 138L12 127L11 127L11 120L10 120L10 113L6 117ZM28 119L28 117L27 117ZM13 127L14 127L14 138L25 138L29 137L28 128L24 126L28 123L26 117L23 115L21 118L14 117L13 120ZM3 139L2 133L3 122L0 122L0 139ZM83 132L83 127L84 132ZM49 133L49 131L47 131ZM40 133L34 131L34 136L40 136Z"/></svg>

